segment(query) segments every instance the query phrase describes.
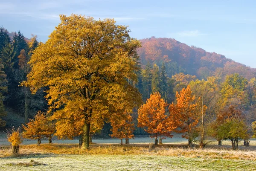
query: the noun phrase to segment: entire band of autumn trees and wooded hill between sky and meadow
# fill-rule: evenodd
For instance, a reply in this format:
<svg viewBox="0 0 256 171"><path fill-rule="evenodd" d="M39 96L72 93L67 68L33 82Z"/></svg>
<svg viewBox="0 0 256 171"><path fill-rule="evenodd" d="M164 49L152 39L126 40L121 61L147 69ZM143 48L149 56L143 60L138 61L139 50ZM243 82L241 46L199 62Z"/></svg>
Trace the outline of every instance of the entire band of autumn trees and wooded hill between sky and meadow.
<svg viewBox="0 0 256 171"><path fill-rule="evenodd" d="M46 42L0 28L0 126L12 146L139 135L157 146L177 133L191 148L238 150L254 137L256 69L172 38L131 38L112 19L60 18Z"/></svg>

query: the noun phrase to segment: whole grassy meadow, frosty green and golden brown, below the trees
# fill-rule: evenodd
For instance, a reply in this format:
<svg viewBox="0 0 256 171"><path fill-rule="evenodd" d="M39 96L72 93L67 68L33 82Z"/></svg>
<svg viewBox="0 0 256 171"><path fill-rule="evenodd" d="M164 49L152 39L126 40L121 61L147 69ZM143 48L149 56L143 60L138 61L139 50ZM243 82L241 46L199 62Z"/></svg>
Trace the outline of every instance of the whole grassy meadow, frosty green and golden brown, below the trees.
<svg viewBox="0 0 256 171"><path fill-rule="evenodd" d="M173 142L170 142L173 140ZM180 142L178 142L180 141ZM164 139L163 145L148 150L151 138L131 139L120 145L119 139L94 139L90 150L78 147L78 140L54 140L37 146L36 140L25 140L20 154L13 156L2 135L0 139L0 170L2 171L254 171L256 141L250 148L231 150L230 142L222 146L212 142L205 149L188 148L186 139L175 136Z"/></svg>

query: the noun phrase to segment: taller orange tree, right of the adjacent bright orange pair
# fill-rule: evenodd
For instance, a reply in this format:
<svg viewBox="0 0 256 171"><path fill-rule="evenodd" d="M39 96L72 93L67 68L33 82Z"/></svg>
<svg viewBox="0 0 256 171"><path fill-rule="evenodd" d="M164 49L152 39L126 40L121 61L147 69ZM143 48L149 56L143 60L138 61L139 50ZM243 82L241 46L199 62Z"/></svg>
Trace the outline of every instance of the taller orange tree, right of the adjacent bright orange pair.
<svg viewBox="0 0 256 171"><path fill-rule="evenodd" d="M182 137L189 140L189 145L192 140L198 136L197 125L197 104L195 96L192 96L192 91L188 85L180 92L176 92L176 103L169 106L169 119L177 127L177 133L183 133Z"/></svg>

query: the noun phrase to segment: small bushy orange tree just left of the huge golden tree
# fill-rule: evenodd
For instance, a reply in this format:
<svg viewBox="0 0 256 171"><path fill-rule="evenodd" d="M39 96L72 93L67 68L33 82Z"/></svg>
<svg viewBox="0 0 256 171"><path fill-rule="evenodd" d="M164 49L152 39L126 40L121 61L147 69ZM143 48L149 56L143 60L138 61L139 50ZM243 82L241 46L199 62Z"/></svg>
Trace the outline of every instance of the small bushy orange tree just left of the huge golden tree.
<svg viewBox="0 0 256 171"><path fill-rule="evenodd" d="M38 145L41 145L43 138L50 138L55 131L55 126L52 121L39 111L35 115L35 119L29 119L29 122L23 126L23 137L28 139L37 139ZM50 141L49 141L50 142Z"/></svg>

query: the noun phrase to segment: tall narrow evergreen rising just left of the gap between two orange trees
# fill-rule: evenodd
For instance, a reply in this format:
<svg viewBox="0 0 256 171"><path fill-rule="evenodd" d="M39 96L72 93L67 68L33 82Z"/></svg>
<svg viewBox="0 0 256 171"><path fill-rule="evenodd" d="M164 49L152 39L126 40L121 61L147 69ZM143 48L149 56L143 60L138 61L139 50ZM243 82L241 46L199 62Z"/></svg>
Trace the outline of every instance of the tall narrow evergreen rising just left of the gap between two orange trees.
<svg viewBox="0 0 256 171"><path fill-rule="evenodd" d="M167 81L168 81L168 78L166 76L166 66L163 61L162 67L161 67L161 73L160 73L160 93L163 99L165 100L167 100L167 89L168 89Z"/></svg>

